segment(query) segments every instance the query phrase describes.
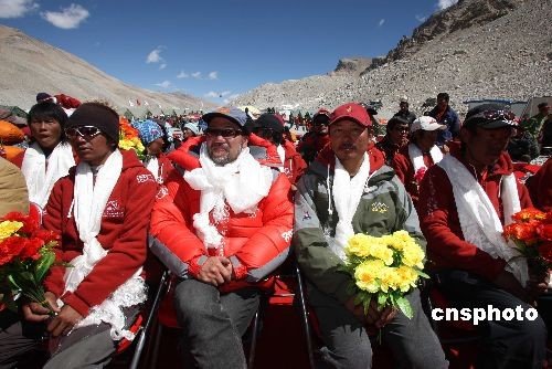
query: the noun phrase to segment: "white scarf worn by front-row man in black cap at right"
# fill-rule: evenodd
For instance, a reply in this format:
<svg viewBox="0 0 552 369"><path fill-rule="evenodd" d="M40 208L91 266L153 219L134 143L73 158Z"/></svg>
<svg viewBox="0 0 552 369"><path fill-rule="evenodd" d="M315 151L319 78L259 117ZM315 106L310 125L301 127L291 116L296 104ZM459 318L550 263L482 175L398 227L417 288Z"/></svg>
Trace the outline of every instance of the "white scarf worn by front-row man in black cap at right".
<svg viewBox="0 0 552 369"><path fill-rule="evenodd" d="M464 239L493 259L505 260L508 263L506 270L524 287L529 278L527 261L519 257L517 249L503 239L500 219L482 187L468 169L450 155L440 160L438 166L445 170L453 184ZM500 199L505 223L510 224L512 214L521 210L513 175L502 177Z"/></svg>

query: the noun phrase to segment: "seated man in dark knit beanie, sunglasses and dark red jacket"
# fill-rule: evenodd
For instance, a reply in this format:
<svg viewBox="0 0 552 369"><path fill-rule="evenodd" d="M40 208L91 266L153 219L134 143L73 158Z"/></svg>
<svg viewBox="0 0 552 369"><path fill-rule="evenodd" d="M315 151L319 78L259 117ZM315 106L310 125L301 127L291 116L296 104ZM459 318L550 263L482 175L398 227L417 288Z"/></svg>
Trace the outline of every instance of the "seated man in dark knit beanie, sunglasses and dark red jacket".
<svg viewBox="0 0 552 369"><path fill-rule="evenodd" d="M131 150L120 150L119 117L102 103L84 103L70 117L65 135L79 158L52 189L43 225L61 234L61 265L44 280L49 308L29 303L24 321L0 330L0 366L17 366L50 335L44 368L106 366L116 342L146 301L142 265L157 184Z"/></svg>

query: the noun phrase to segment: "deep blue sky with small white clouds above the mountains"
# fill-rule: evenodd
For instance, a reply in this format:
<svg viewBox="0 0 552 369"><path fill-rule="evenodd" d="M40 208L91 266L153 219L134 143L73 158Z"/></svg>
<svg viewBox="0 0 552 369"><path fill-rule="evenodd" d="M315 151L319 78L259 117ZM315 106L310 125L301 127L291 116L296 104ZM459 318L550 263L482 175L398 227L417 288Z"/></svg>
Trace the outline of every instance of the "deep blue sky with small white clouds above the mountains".
<svg viewBox="0 0 552 369"><path fill-rule="evenodd" d="M379 56L457 0L0 0L0 23L135 86L214 103ZM221 97L222 96L222 97Z"/></svg>

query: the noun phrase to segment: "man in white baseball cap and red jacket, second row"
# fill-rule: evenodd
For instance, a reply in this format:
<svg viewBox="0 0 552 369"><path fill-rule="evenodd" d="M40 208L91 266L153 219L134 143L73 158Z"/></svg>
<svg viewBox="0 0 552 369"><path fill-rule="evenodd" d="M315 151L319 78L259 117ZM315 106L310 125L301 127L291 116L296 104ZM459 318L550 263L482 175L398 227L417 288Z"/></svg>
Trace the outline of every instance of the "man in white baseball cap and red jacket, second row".
<svg viewBox="0 0 552 369"><path fill-rule="evenodd" d="M416 208L418 187L425 171L443 159L444 151L436 145L438 133L443 129L446 129L446 125L438 124L433 117L415 119L411 125L410 144L393 158L392 167Z"/></svg>

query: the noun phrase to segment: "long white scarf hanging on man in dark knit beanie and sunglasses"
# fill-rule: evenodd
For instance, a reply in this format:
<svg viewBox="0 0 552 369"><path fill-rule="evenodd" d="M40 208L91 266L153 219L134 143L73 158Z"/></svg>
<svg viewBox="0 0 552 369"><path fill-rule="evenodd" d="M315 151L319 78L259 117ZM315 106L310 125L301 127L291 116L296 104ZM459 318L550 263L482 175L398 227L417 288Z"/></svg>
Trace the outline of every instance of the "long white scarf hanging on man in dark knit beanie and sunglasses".
<svg viewBox="0 0 552 369"><path fill-rule="evenodd" d="M76 167L74 190L74 215L78 236L84 242L83 254L71 261L65 272L65 292L74 292L94 266L104 259L106 251L96 236L102 226L102 214L123 170L123 156L115 150L99 169L94 184L94 175L87 162ZM105 321L112 326L114 340L134 339L125 329L123 307L130 307L146 301L146 284L140 276L141 267L123 285L113 292L100 305L91 308L91 314L75 328L98 325Z"/></svg>

